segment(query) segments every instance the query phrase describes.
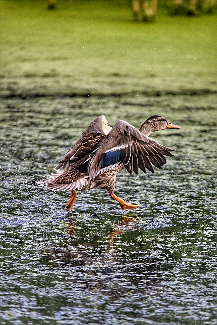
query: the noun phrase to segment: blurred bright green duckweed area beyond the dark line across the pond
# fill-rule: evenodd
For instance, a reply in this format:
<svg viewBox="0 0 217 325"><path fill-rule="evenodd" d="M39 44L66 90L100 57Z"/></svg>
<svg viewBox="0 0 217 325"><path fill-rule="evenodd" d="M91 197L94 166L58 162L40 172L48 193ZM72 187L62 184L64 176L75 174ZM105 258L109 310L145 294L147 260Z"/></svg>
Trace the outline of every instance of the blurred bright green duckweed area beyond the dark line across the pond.
<svg viewBox="0 0 217 325"><path fill-rule="evenodd" d="M0 1L1 96L216 91L216 14L134 22L131 1Z"/></svg>

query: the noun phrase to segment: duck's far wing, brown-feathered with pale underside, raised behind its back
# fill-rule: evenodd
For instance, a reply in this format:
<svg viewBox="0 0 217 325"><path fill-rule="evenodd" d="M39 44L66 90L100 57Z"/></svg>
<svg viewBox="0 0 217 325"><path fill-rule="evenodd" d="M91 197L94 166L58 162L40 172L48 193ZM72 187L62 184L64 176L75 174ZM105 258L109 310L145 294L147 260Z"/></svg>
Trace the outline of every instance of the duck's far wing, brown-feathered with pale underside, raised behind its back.
<svg viewBox="0 0 217 325"><path fill-rule="evenodd" d="M102 120L104 115L97 117L82 133L81 138L71 147L66 155L58 162L56 169L66 168L74 161L81 159L93 152L99 144L105 139L106 134L102 129Z"/></svg>

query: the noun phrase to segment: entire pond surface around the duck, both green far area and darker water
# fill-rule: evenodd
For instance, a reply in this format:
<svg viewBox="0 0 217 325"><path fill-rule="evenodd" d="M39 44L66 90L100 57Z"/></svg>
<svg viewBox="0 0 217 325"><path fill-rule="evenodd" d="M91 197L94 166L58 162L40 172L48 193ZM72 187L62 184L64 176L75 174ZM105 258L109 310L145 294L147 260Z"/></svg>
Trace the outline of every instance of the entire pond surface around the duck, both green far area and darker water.
<svg viewBox="0 0 217 325"><path fill-rule="evenodd" d="M0 325L216 325L216 14L160 2L144 23L130 1L47 6L0 0ZM118 175L141 209L92 190L66 215L69 193L38 180L101 114L136 127L163 115L181 130L154 139L177 152Z"/></svg>

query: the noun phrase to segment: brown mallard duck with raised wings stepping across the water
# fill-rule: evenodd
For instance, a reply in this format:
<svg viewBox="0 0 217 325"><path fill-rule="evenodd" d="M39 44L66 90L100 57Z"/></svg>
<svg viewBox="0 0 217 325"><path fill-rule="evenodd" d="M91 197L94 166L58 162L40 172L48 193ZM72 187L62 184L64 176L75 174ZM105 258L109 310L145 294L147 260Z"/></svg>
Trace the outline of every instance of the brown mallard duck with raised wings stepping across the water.
<svg viewBox="0 0 217 325"><path fill-rule="evenodd" d="M45 176L40 185L52 191L71 191L66 204L67 211L73 208L77 190L91 188L106 189L121 208L136 209L140 204L130 204L118 198L115 191L116 175L122 169L138 174L139 168L154 172L152 164L161 168L166 163L164 156L173 156L172 149L149 138L155 131L180 129L164 117L153 115L136 129L133 125L119 121L114 127L108 125L104 115L97 117L82 133L68 153L54 168L54 173Z"/></svg>

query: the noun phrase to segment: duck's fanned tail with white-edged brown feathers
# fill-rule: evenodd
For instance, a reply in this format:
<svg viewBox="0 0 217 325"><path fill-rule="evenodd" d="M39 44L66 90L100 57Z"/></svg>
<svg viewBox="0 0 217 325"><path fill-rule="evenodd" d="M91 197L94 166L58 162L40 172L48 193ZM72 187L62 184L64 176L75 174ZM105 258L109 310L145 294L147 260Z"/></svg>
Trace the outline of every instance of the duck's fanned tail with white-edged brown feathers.
<svg viewBox="0 0 217 325"><path fill-rule="evenodd" d="M49 174L46 179L39 182L40 186L47 186L52 191L72 191L81 190L84 186L88 185L87 178L89 175L81 174L79 177L69 179L66 174L66 170L54 168L55 173Z"/></svg>

